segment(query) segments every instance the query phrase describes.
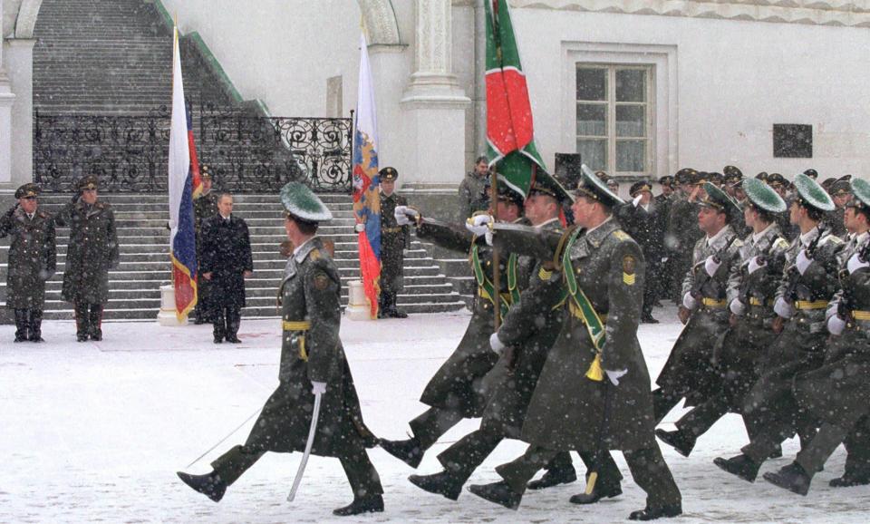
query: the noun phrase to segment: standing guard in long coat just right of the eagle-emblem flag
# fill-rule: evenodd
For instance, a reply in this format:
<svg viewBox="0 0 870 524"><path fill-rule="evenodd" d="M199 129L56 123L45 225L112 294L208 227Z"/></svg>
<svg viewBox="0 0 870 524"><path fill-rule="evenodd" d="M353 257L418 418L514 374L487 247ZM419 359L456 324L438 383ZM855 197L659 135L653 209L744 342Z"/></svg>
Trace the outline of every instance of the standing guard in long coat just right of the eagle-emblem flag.
<svg viewBox="0 0 870 524"><path fill-rule="evenodd" d="M411 226L396 222L396 206L407 206L408 201L396 194L399 171L383 168L381 176L381 297L379 318L407 318L408 314L396 307L396 297L404 287L404 250L411 247Z"/></svg>

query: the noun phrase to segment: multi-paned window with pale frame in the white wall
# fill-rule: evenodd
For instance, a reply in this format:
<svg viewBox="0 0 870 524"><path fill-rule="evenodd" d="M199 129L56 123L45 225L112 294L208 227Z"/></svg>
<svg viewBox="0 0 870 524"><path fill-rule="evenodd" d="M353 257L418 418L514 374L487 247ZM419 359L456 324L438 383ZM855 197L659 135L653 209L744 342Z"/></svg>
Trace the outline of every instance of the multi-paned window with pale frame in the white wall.
<svg viewBox="0 0 870 524"><path fill-rule="evenodd" d="M577 152L592 170L652 173L652 66L577 64Z"/></svg>

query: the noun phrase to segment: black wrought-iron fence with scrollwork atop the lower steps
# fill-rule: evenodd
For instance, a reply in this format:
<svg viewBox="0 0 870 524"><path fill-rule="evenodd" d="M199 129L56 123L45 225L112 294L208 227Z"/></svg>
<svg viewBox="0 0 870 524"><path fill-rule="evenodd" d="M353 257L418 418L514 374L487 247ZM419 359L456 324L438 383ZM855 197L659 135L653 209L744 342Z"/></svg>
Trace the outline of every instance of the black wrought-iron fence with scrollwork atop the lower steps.
<svg viewBox="0 0 870 524"><path fill-rule="evenodd" d="M35 180L71 192L97 175L106 192L166 192L169 110L146 115L46 115L34 119ZM315 191L351 191L352 121L252 116L198 106L192 116L200 164L218 189L273 192L291 180Z"/></svg>

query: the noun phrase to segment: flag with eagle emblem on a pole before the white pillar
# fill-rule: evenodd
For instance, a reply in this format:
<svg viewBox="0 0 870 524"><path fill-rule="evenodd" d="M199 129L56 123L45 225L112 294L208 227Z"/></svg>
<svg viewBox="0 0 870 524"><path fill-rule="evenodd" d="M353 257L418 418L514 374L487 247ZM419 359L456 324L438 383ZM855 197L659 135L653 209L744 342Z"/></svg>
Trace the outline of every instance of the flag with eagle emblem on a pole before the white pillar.
<svg viewBox="0 0 870 524"><path fill-rule="evenodd" d="M372 318L381 295L381 193L378 187L378 121L365 34L360 35L360 85L353 122L353 214L359 231L362 287ZM360 229L360 228L357 228Z"/></svg>

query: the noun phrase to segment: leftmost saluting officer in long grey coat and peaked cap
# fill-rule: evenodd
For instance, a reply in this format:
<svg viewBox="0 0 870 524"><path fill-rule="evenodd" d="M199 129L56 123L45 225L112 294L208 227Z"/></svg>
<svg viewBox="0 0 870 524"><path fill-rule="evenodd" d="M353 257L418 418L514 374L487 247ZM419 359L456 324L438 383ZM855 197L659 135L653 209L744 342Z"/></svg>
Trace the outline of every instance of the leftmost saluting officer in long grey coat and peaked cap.
<svg viewBox="0 0 870 524"><path fill-rule="evenodd" d="M14 310L15 342L44 342L45 281L54 275L57 251L51 215L37 209L39 186L15 190L18 203L0 218L0 238L12 237L6 272L6 307Z"/></svg>

